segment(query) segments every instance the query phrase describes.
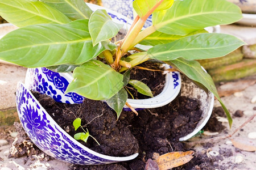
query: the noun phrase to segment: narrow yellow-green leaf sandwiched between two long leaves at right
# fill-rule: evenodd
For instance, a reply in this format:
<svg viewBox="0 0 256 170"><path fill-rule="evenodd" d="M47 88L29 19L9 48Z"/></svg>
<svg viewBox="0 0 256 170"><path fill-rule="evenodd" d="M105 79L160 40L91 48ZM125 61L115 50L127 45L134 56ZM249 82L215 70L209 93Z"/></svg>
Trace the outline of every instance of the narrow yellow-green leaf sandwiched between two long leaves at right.
<svg viewBox="0 0 256 170"><path fill-rule="evenodd" d="M150 36L147 36L146 39L144 39L143 41L139 42L139 44L152 45L152 46L155 46L158 44L167 44L172 41L179 40L183 37L196 35L198 33L207 33L207 31L205 29L201 29L200 31L192 32L185 36L169 35L167 33L156 31L156 32L152 33Z"/></svg>

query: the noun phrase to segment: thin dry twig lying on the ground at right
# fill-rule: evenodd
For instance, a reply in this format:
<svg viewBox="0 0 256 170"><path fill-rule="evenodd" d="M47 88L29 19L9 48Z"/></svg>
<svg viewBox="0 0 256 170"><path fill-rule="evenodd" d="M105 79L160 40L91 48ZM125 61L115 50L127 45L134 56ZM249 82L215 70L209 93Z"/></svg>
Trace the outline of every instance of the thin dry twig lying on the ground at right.
<svg viewBox="0 0 256 170"><path fill-rule="evenodd" d="M234 130L234 132L232 134L226 135L226 136L222 136L222 137L215 137L215 138L210 138L210 139L204 139L204 140L200 140L200 141L195 141L195 142L184 142L186 145L188 146L195 146L197 144L200 143L207 143L207 142L213 142L213 141L219 141L221 139L226 139L226 138L230 138L232 137L238 130L242 129L243 126L245 126L246 124L248 124L251 120L254 119L254 117L256 116L256 114L254 114L253 116L251 116L246 122L244 122L241 126L239 126L236 130Z"/></svg>

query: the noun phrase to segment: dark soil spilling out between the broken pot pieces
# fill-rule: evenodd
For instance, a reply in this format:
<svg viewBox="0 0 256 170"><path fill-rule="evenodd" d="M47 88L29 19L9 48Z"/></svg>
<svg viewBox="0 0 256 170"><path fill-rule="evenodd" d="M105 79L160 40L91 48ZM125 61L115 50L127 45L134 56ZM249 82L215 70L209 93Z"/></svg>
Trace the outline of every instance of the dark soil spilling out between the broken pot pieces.
<svg viewBox="0 0 256 170"><path fill-rule="evenodd" d="M179 142L179 138L195 129L201 118L197 100L181 96L162 108L138 111L139 116L133 112L122 112L116 121L115 112L101 101L86 99L83 104L72 105L56 103L48 96L35 92L34 95L57 124L71 136L81 132L73 128L73 120L80 117L82 126L88 128L90 134L101 144L98 146L89 138L87 143L81 142L85 146L112 156L127 156L139 152L139 156L130 162L94 166L72 165L71 169L144 169L146 161L152 159L155 152L162 155L191 150ZM210 165L213 162L209 158L196 154L191 162L176 169L203 169Z"/></svg>

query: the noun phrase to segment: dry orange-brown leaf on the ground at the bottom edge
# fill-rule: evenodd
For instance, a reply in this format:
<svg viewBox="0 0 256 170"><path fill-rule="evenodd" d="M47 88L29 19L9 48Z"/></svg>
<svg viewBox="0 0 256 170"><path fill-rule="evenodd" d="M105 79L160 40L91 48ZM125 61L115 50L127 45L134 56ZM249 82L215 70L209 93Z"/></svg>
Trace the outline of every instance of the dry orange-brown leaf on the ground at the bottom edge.
<svg viewBox="0 0 256 170"><path fill-rule="evenodd" d="M159 170L179 167L180 165L188 163L193 158L194 153L194 151L170 152L159 156L159 158L156 159L156 163L158 163Z"/></svg>

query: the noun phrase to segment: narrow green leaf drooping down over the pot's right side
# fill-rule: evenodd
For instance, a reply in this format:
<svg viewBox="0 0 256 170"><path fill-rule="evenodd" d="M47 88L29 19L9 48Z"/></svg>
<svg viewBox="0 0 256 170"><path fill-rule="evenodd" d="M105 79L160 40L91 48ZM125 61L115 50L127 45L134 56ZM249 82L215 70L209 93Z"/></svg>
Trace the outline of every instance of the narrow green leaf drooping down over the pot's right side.
<svg viewBox="0 0 256 170"><path fill-rule="evenodd" d="M180 70L181 73L185 74L193 81L203 84L203 86L211 91L213 95L216 96L218 101L220 101L220 104L222 105L222 108L224 109L226 116L228 117L229 126L232 126L232 117L230 116L228 109L225 107L224 103L220 99L220 96L218 96L217 89L211 76L202 69L199 62L187 60L184 58L177 58L172 61L166 61L166 63L168 63L172 67L175 67L177 70Z"/></svg>

